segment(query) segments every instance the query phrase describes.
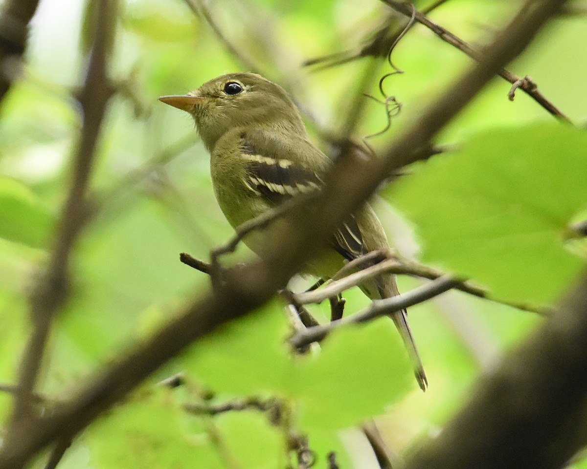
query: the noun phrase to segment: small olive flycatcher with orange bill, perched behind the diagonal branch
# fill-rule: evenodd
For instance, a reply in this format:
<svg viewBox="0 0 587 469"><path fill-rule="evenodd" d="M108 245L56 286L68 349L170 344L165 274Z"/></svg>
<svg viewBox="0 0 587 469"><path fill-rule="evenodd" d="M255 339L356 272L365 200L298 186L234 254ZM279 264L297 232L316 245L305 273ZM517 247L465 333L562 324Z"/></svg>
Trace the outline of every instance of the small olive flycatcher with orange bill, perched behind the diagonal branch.
<svg viewBox="0 0 587 469"><path fill-rule="evenodd" d="M301 114L288 93L255 73L229 73L184 95L161 96L163 103L187 111L210 153L212 186L218 205L236 228L296 195L323 185L332 167L308 135ZM259 237L244 240L259 252ZM324 252L303 273L324 280L345 263L373 250L390 252L383 226L365 203L333 233ZM359 286L371 300L398 295L393 274ZM406 310L392 317L422 390L428 381Z"/></svg>

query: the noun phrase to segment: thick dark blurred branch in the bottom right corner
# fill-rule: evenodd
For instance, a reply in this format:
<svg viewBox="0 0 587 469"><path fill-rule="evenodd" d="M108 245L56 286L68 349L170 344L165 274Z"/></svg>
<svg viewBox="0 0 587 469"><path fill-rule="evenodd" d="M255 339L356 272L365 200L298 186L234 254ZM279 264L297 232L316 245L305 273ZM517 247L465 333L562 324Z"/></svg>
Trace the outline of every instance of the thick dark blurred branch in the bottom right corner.
<svg viewBox="0 0 587 469"><path fill-rule="evenodd" d="M587 277L407 469L559 468L587 441Z"/></svg>

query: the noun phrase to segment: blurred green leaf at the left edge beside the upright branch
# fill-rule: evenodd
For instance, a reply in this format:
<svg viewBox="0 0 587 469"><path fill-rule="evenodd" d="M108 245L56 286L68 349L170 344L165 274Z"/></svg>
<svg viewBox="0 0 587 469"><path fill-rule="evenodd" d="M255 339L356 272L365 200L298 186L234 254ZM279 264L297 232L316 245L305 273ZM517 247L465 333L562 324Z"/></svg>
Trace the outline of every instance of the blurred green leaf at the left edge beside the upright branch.
<svg viewBox="0 0 587 469"><path fill-rule="evenodd" d="M53 219L22 182L0 176L0 237L45 247Z"/></svg>

